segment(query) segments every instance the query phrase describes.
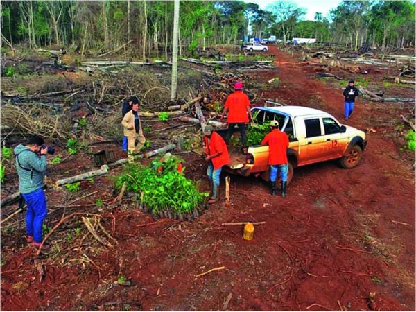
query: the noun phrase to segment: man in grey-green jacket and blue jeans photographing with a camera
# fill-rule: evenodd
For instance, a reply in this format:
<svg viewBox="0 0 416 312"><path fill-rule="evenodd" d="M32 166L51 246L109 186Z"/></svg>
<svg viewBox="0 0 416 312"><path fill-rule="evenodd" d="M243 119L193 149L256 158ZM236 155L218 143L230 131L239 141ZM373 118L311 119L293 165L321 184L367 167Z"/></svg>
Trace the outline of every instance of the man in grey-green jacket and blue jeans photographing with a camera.
<svg viewBox="0 0 416 312"><path fill-rule="evenodd" d="M46 198L43 190L46 174L46 153L53 148L44 146L44 139L33 135L26 145L15 147L15 166L19 175L19 191L26 201L26 241L35 248L42 243L42 225L46 218ZM51 248L44 244L43 250Z"/></svg>

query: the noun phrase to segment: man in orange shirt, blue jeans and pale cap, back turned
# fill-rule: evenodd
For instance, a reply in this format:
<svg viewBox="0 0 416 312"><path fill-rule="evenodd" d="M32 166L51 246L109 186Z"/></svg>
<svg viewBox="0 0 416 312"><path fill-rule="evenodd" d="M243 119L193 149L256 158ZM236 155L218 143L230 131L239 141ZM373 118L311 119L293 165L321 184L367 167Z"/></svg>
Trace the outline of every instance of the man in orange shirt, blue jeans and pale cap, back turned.
<svg viewBox="0 0 416 312"><path fill-rule="evenodd" d="M281 197L286 197L286 186L288 181L288 156L287 149L289 146L289 138L285 132L279 130L279 123L276 120L270 122L272 132L268 133L261 141L261 145L268 144L270 166L270 194L276 195L276 177L280 173L281 178Z"/></svg>

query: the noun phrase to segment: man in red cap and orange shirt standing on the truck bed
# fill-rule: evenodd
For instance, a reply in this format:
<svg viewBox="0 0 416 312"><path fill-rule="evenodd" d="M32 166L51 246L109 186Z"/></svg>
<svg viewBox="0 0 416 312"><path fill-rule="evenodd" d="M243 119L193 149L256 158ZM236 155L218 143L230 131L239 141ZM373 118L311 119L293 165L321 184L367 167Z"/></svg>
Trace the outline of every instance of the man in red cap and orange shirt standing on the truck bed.
<svg viewBox="0 0 416 312"><path fill-rule="evenodd" d="M225 142L229 144L229 139L231 139L232 132L234 131L235 126L239 127L239 132L241 135L241 143L245 147L245 123L253 119L253 116L250 111L250 100L248 96L243 92L243 83L238 82L234 85L235 92L230 94L225 101L224 111L221 115L221 119L224 119L224 115L227 114L227 123L228 131L225 136Z"/></svg>

